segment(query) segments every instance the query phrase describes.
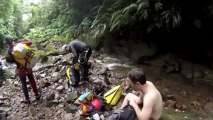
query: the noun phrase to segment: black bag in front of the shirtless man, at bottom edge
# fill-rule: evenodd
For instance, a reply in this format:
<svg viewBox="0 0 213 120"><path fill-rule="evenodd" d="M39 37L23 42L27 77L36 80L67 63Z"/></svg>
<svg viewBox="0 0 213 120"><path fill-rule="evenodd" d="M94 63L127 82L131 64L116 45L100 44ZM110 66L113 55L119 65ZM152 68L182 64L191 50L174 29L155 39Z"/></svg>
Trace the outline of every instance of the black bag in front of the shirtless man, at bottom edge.
<svg viewBox="0 0 213 120"><path fill-rule="evenodd" d="M107 120L135 120L136 112L134 108L130 105L113 112Z"/></svg>

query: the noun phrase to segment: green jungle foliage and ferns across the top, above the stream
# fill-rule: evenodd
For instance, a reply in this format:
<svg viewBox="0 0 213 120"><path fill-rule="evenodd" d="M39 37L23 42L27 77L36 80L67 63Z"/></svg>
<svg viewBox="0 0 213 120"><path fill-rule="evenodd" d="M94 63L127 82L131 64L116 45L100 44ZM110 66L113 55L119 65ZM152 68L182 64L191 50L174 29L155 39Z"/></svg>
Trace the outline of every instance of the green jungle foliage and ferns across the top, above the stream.
<svg viewBox="0 0 213 120"><path fill-rule="evenodd" d="M64 42L79 38L93 47L108 36L113 36L110 41L159 44L174 44L171 41L181 41L180 36L184 35L189 39L202 38L195 33L212 38L206 32L212 29L211 0L41 0L38 4L26 4L26 0L1 1L2 35L25 34L33 40ZM21 14L30 17L21 22Z"/></svg>

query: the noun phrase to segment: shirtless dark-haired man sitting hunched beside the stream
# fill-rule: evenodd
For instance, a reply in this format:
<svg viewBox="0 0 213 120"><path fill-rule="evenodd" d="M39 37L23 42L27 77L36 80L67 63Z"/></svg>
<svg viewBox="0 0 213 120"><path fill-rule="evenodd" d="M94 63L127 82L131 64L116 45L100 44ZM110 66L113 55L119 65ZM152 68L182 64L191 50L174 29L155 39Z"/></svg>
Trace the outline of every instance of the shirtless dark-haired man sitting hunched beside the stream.
<svg viewBox="0 0 213 120"><path fill-rule="evenodd" d="M138 120L159 120L163 112L163 101L160 92L146 76L142 69L134 68L128 73L127 82L130 87L140 92L139 96L129 93L126 95L121 108L131 105ZM143 105L141 108L140 105Z"/></svg>

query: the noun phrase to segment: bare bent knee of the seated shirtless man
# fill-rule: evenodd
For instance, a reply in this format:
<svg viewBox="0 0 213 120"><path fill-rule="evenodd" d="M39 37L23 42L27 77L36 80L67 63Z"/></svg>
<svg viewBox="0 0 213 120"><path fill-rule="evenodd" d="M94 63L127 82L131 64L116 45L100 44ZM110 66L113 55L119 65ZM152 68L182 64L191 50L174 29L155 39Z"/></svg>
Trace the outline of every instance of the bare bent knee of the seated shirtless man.
<svg viewBox="0 0 213 120"><path fill-rule="evenodd" d="M124 100L123 100L123 103L122 103L122 105L121 105L121 108L126 107L126 106L129 104L129 100L130 100L130 99L135 100L137 104L141 104L141 102L140 102L140 101L141 101L141 100L140 100L140 97L136 96L135 94L128 93L128 94L126 95L126 97L124 98Z"/></svg>

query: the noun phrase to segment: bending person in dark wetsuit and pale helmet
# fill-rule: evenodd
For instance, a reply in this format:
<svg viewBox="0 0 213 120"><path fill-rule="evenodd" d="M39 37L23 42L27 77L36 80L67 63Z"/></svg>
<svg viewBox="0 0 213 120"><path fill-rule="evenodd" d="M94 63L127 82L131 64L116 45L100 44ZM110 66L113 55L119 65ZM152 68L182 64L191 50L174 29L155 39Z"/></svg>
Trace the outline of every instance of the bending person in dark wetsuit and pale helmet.
<svg viewBox="0 0 213 120"><path fill-rule="evenodd" d="M69 44L63 45L62 52L63 53L70 52L73 54L72 64L74 66L78 66L78 61L80 63L80 72L81 72L80 81L88 81L89 79L88 72L90 68L88 61L92 54L91 47L86 43L78 39L75 39L72 40Z"/></svg>

